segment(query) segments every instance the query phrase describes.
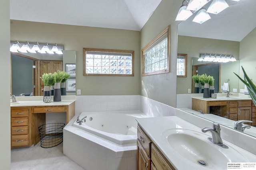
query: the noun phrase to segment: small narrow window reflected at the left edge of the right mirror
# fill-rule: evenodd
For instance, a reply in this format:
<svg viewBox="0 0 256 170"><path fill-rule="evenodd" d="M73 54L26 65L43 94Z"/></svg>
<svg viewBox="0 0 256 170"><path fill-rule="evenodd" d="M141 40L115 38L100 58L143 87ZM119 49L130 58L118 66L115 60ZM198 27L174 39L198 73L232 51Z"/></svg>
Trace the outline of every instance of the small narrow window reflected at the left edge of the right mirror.
<svg viewBox="0 0 256 170"><path fill-rule="evenodd" d="M178 54L177 56L177 77L187 77L187 55Z"/></svg>

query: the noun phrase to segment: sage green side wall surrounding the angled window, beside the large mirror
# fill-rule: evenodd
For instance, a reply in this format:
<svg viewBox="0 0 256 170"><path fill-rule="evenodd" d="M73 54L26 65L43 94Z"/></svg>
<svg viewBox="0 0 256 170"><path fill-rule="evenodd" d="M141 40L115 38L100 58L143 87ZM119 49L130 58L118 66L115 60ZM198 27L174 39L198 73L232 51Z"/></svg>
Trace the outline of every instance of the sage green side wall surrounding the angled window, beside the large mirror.
<svg viewBox="0 0 256 170"><path fill-rule="evenodd" d="M170 25L170 72L141 77L141 95L176 107L177 24L181 1L162 0L141 29L141 49Z"/></svg>

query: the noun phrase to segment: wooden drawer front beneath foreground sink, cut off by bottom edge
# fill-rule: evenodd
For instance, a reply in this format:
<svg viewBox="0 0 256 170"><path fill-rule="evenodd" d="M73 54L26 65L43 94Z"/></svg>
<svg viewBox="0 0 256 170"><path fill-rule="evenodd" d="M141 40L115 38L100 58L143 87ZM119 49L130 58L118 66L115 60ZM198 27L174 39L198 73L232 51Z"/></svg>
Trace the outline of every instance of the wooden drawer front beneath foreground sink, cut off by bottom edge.
<svg viewBox="0 0 256 170"><path fill-rule="evenodd" d="M175 170L153 144L151 145L151 160L157 170Z"/></svg>

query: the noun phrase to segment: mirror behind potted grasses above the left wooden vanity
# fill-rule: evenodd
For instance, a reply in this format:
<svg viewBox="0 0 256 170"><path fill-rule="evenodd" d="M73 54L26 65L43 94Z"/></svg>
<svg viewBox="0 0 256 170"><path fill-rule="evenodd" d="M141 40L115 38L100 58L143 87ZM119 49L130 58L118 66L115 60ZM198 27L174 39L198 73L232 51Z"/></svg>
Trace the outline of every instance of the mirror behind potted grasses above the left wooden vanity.
<svg viewBox="0 0 256 170"><path fill-rule="evenodd" d="M76 64L76 51L59 54L11 53L11 92L15 96L42 96L42 84L38 74L46 64L55 64L58 70L66 71L66 64ZM51 70L49 70L50 72ZM72 77L75 80L75 77ZM75 95L75 92L67 92Z"/></svg>

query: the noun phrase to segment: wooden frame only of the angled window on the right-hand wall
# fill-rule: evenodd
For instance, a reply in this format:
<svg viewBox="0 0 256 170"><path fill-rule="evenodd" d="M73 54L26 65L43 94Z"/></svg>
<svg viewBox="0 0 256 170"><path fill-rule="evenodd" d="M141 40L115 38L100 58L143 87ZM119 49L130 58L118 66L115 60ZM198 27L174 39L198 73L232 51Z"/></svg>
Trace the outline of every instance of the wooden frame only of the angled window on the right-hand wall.
<svg viewBox="0 0 256 170"><path fill-rule="evenodd" d="M145 73L145 54L144 51L149 51L154 47L155 43L160 40L164 35L167 35L167 68L163 70L158 70L154 72ZM142 57L142 76L149 76L154 74L162 74L170 72L170 25L164 29L159 35L157 35L152 41L150 41L145 47L141 50Z"/></svg>

